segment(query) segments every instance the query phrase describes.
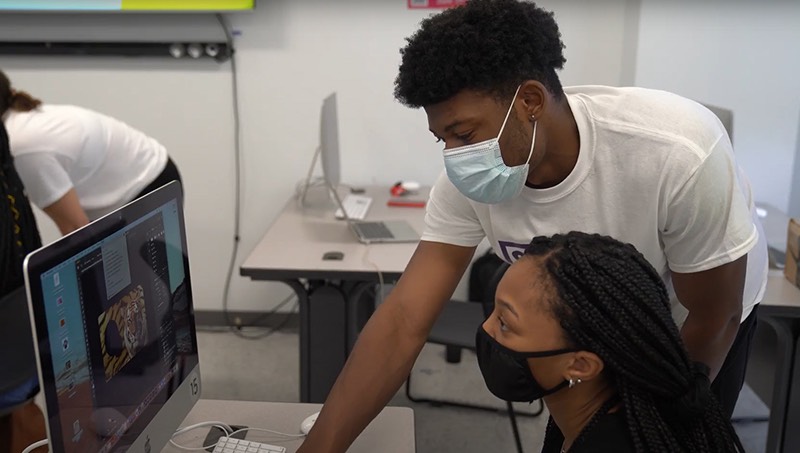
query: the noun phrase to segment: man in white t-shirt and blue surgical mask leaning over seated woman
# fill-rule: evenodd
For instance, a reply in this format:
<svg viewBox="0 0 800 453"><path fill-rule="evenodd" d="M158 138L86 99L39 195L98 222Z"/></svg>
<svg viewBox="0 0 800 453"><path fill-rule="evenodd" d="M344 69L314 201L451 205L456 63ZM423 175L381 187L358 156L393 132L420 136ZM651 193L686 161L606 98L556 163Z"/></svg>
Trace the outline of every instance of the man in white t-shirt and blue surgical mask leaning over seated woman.
<svg viewBox="0 0 800 453"><path fill-rule="evenodd" d="M708 109L671 93L563 88L563 47L552 13L515 0L470 0L408 39L395 96L425 110L445 172L413 257L299 453L345 451L380 412L484 238L509 263L534 236L577 230L633 244L674 290L689 357L710 368L732 414L767 246L730 139Z"/></svg>

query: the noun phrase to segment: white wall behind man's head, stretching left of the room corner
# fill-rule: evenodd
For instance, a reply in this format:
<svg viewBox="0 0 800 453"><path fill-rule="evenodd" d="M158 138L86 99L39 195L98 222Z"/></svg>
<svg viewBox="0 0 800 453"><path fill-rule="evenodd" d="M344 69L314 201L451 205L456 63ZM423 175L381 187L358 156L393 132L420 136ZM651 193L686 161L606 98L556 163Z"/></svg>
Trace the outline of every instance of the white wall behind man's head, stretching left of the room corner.
<svg viewBox="0 0 800 453"><path fill-rule="evenodd" d="M631 0L539 2L556 12L566 44L562 81L619 85ZM398 50L428 12L405 0L268 0L231 15L242 113L243 222L239 262L260 239L308 168L319 107L337 91L343 180L432 183L440 146L425 115L394 101ZM626 18L627 17L627 18ZM633 30L635 31L635 30ZM627 61L627 63L626 63ZM632 66L631 66L632 67ZM221 307L233 233L234 154L229 65L158 59L7 58L0 68L48 102L106 112L165 143L187 192L196 308ZM42 226L54 238L51 225ZM231 309L264 310L288 294L280 284L234 278Z"/></svg>

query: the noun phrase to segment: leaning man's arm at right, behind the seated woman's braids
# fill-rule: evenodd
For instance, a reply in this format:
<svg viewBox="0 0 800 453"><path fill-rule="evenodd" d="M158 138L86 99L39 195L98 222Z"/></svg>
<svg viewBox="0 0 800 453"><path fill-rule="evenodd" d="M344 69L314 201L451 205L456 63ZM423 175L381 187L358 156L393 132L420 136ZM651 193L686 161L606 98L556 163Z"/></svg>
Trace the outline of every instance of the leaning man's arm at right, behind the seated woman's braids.
<svg viewBox="0 0 800 453"><path fill-rule="evenodd" d="M711 369L712 381L739 330L746 273L747 255L707 271L672 274L675 294L689 310L681 336L689 357Z"/></svg>

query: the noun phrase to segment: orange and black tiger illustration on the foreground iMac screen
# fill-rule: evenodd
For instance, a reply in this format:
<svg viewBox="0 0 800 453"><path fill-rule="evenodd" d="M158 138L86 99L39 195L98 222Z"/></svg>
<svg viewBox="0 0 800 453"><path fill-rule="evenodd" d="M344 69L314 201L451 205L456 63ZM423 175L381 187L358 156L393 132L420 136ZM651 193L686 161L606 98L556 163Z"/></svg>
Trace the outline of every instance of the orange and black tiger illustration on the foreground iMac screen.
<svg viewBox="0 0 800 453"><path fill-rule="evenodd" d="M111 380L147 344L144 289L138 285L101 314L100 346L106 381Z"/></svg>

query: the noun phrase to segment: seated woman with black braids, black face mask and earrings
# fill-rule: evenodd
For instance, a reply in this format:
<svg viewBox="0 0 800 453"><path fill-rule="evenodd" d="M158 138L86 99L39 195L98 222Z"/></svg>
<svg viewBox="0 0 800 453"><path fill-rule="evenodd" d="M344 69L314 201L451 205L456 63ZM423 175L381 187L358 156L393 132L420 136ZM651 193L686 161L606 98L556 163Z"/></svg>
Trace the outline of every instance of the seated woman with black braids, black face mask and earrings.
<svg viewBox="0 0 800 453"><path fill-rule="evenodd" d="M629 244L533 239L476 342L492 393L544 398L543 452L744 451L707 367L686 353L664 283Z"/></svg>

